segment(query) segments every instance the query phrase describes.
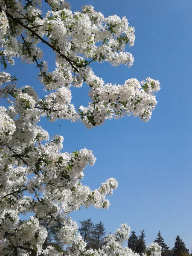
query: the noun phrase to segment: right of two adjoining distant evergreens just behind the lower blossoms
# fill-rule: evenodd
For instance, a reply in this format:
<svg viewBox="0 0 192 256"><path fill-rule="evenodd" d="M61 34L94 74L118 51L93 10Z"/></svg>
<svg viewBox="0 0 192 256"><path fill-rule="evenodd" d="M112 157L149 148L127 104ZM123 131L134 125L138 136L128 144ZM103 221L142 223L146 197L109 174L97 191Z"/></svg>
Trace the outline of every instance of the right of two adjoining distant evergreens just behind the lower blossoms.
<svg viewBox="0 0 192 256"><path fill-rule="evenodd" d="M99 224L96 224L93 228L91 248L96 250L101 248L104 244L105 234L106 231L104 225L100 221Z"/></svg>

